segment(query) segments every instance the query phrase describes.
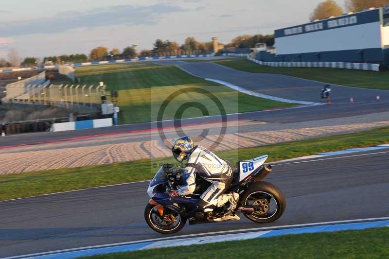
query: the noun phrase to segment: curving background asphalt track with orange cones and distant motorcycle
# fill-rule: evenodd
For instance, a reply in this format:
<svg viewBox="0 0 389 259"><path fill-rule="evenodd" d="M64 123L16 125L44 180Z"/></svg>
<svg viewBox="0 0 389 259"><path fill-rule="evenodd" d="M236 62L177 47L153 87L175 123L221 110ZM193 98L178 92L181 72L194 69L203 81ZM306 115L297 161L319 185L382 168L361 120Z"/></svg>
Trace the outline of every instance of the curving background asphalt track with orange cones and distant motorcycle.
<svg viewBox="0 0 389 259"><path fill-rule="evenodd" d="M277 74L259 74L230 69L211 62L189 63L177 61L158 61L161 64L168 62L177 65L196 76L222 80L230 84L244 87L248 90L260 92L271 96L285 99L322 102L319 99L320 89L323 83L283 76ZM296 94L298 93L298 94ZM380 95L381 102L375 98ZM350 104L350 97L354 98L355 104ZM366 89L348 86L332 86L332 105L318 105L301 107L298 109L283 109L266 112L249 112L228 115L228 120L260 120L267 122L301 122L316 121L330 118L343 118L356 115L367 115L389 111L389 91ZM207 123L220 121L219 116L193 118L181 120L182 125ZM177 121L165 121L164 127L174 126ZM115 127L87 129L69 132L44 132L24 134L0 138L0 148L8 145L22 145L36 142L46 142L65 138L79 138L91 135L123 133L156 128L155 122L120 125Z"/></svg>

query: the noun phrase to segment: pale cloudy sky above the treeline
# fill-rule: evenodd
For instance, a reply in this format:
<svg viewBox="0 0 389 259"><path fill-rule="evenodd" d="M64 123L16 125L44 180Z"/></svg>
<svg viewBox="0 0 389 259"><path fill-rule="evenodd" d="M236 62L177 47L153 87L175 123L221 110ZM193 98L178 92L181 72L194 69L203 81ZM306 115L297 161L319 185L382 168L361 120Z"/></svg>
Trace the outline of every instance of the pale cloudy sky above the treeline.
<svg viewBox="0 0 389 259"><path fill-rule="evenodd" d="M309 21L322 0L1 0L0 58L151 49L157 38L228 43ZM343 7L343 0L336 0Z"/></svg>

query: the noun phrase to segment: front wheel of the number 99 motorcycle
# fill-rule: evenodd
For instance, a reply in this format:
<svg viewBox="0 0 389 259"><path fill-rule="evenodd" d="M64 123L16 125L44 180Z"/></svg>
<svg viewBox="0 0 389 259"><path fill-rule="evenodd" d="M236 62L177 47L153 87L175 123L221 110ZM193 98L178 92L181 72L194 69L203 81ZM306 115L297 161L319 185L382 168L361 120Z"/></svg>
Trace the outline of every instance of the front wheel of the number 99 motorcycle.
<svg viewBox="0 0 389 259"><path fill-rule="evenodd" d="M167 212L167 210L169 210ZM147 204L144 209L144 219L147 224L155 231L161 234L173 234L180 231L186 223L186 218L178 213L164 208L161 216L155 205Z"/></svg>

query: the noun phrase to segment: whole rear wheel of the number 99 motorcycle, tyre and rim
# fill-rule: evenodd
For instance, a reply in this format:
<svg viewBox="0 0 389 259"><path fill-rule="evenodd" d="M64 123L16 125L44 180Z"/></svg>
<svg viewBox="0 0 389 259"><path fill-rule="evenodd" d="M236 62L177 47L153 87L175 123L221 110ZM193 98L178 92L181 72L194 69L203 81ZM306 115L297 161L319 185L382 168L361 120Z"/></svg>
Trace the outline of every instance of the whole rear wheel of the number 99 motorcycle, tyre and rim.
<svg viewBox="0 0 389 259"><path fill-rule="evenodd" d="M253 212L244 215L256 223L269 223L278 220L285 211L286 200L280 189L268 182L251 183L240 198L245 206L256 206Z"/></svg>

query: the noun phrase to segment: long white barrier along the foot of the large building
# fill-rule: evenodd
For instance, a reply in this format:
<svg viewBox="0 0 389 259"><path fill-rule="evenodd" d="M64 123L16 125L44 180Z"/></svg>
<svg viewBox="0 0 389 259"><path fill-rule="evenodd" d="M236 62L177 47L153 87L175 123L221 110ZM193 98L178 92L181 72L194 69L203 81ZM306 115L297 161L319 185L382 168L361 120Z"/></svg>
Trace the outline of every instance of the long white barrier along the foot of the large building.
<svg viewBox="0 0 389 259"><path fill-rule="evenodd" d="M333 69L359 69L379 71L379 64L370 63L344 63L344 62L267 62L247 57L248 60L262 66L268 67L289 67L289 68L333 68Z"/></svg>

